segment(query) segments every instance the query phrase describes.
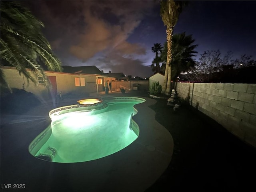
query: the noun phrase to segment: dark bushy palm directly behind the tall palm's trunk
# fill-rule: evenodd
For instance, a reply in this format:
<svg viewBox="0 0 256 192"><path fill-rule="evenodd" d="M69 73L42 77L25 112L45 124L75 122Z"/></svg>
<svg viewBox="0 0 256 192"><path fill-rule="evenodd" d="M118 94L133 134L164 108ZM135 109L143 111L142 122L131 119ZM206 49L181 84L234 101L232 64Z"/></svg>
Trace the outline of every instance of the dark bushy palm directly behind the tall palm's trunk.
<svg viewBox="0 0 256 192"><path fill-rule="evenodd" d="M198 45L194 45L195 39L192 35L186 36L186 33L174 34L172 37L172 74L171 80L175 81L181 72L186 72L196 63L192 57L196 56L194 50ZM161 70L165 71L167 60L167 42L161 53L162 66Z"/></svg>

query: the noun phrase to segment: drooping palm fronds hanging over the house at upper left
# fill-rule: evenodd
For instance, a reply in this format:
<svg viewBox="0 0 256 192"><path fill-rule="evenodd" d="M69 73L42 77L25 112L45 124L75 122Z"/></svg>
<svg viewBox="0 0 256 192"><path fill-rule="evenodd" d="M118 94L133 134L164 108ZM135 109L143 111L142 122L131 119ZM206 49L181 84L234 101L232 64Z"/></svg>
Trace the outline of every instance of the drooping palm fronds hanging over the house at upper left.
<svg viewBox="0 0 256 192"><path fill-rule="evenodd" d="M20 5L20 2L1 1L1 65L15 67L27 80L37 80L26 68L41 76L47 85L42 65L50 71L62 71L61 62L41 32L44 24ZM1 85L8 86L1 69Z"/></svg>

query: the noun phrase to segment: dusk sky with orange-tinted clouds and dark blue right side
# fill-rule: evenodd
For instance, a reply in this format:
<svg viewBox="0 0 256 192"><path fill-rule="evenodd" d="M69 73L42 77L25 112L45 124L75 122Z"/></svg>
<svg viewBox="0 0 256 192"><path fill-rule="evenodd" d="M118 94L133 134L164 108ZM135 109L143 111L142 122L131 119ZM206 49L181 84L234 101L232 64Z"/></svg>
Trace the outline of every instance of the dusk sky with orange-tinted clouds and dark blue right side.
<svg viewBox="0 0 256 192"><path fill-rule="evenodd" d="M54 53L68 66L149 77L154 43L166 42L159 1L22 1L41 20ZM256 1L190 1L174 34L192 34L198 56L232 51L256 59Z"/></svg>

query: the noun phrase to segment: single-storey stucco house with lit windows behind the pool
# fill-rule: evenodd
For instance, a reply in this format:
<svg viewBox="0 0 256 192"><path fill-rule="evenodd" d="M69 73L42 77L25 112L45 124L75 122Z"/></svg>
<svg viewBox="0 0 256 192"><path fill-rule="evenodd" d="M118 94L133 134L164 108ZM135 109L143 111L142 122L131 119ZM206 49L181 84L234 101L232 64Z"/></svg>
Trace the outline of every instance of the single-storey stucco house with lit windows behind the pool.
<svg viewBox="0 0 256 192"><path fill-rule="evenodd" d="M115 77L106 76L96 66L62 67L63 72L45 71L49 82L48 87L44 86L42 77L36 76L30 69L27 70L37 79L37 85L28 81L23 74L19 74L14 67L1 66L1 69L10 88L24 89L40 100L55 98L60 92L62 95L72 93L89 96L90 93L103 91L106 79L116 80Z"/></svg>

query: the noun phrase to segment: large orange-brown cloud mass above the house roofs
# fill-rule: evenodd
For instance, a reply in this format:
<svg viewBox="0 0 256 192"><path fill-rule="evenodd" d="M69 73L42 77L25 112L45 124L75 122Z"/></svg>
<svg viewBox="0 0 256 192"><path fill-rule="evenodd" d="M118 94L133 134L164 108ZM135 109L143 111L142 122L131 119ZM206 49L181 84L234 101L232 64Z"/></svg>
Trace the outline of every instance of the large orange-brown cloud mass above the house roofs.
<svg viewBox="0 0 256 192"><path fill-rule="evenodd" d="M144 70L145 61L140 56L147 53L146 46L131 43L128 38L155 4L155 1L42 1L39 18L62 62L70 55L81 61L75 62L76 66L96 65L104 72L108 69L129 72L130 68L139 71ZM106 63L107 60L111 62ZM131 74L139 73L131 71ZM145 76L145 72L140 74Z"/></svg>

